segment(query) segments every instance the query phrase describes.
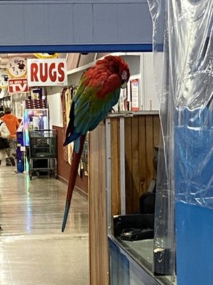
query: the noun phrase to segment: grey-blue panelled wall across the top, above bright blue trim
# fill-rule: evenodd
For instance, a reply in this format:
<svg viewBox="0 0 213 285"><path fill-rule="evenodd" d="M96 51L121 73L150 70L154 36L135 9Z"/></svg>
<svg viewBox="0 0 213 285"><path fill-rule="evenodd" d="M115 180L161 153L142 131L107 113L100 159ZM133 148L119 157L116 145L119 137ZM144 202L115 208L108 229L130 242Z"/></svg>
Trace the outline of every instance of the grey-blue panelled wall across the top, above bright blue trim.
<svg viewBox="0 0 213 285"><path fill-rule="evenodd" d="M146 0L0 1L2 52L8 46L20 46L20 51L23 46L31 46L32 51L33 46L64 46L65 51L73 46L75 51L82 45L87 50L87 45L151 43Z"/></svg>

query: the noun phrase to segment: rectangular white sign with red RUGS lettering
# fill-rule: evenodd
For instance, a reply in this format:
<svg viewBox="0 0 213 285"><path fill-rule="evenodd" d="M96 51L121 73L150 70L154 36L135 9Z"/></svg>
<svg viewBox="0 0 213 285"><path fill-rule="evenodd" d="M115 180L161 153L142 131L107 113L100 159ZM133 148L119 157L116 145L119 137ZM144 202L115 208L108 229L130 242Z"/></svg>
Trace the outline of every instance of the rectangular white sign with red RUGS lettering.
<svg viewBox="0 0 213 285"><path fill-rule="evenodd" d="M27 60L28 86L67 86L65 58Z"/></svg>

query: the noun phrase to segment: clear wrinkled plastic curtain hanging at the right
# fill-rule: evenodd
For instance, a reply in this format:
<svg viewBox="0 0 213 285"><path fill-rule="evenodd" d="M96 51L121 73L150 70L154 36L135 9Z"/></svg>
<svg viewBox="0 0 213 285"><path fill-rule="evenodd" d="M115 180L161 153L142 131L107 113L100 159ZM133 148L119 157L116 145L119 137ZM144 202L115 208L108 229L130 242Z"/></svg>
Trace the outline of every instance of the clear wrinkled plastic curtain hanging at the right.
<svg viewBox="0 0 213 285"><path fill-rule="evenodd" d="M202 130L213 128L213 1L148 0L148 4L153 19L155 83L162 131L153 270L155 274L174 276L175 202L213 207L213 175L210 173L205 185L200 185L204 165L213 159L212 136L208 137L207 153L196 161L191 153L197 147L197 137L202 138Z"/></svg>

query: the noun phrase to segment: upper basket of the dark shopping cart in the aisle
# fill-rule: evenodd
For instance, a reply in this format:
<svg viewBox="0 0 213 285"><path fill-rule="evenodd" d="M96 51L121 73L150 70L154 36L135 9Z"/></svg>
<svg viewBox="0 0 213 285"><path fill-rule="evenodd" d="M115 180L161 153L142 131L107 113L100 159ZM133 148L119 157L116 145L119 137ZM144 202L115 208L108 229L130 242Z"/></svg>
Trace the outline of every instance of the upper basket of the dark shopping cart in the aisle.
<svg viewBox="0 0 213 285"><path fill-rule="evenodd" d="M29 140L30 157L57 157L56 130L30 130Z"/></svg>

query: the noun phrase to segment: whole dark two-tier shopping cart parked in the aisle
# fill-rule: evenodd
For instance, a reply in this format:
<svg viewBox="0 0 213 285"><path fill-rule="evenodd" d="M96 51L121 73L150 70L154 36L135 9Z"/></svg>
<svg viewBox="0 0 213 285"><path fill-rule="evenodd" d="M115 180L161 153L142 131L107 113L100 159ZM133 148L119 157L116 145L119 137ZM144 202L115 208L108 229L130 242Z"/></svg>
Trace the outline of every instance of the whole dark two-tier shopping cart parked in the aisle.
<svg viewBox="0 0 213 285"><path fill-rule="evenodd" d="M57 174L57 131L29 131L29 175L39 176L46 172L51 177Z"/></svg>

